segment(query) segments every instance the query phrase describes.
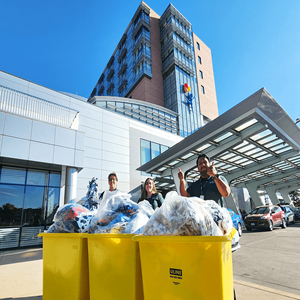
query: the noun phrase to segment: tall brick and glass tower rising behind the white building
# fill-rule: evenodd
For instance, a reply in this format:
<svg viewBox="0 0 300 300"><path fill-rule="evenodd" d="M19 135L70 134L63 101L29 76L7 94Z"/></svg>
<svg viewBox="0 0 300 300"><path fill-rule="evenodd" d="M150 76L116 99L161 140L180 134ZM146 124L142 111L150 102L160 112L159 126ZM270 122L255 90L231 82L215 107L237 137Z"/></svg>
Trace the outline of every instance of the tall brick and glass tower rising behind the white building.
<svg viewBox="0 0 300 300"><path fill-rule="evenodd" d="M148 108L104 104L101 96L140 100ZM142 1L88 101L173 133L166 120L176 118L176 133L188 136L218 116L211 51L172 4L159 16Z"/></svg>

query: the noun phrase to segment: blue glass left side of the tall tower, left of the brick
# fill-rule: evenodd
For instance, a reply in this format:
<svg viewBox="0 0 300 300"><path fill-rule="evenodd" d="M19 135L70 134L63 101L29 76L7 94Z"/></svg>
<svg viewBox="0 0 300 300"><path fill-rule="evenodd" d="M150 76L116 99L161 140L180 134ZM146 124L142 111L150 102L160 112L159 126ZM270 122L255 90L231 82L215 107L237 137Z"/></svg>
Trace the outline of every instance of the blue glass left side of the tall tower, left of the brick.
<svg viewBox="0 0 300 300"><path fill-rule="evenodd" d="M146 7L141 7L100 76L91 97L124 97L143 75L152 77L149 12Z"/></svg>

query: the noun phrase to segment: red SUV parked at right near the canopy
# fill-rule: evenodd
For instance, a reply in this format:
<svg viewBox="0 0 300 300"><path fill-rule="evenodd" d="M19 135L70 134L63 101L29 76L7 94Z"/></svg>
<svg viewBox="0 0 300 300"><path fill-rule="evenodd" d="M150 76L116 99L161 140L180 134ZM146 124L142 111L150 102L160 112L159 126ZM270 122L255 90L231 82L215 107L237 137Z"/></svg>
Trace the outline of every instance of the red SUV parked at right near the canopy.
<svg viewBox="0 0 300 300"><path fill-rule="evenodd" d="M284 211L278 205L258 206L253 209L244 219L247 230L268 229L274 226L286 228Z"/></svg>

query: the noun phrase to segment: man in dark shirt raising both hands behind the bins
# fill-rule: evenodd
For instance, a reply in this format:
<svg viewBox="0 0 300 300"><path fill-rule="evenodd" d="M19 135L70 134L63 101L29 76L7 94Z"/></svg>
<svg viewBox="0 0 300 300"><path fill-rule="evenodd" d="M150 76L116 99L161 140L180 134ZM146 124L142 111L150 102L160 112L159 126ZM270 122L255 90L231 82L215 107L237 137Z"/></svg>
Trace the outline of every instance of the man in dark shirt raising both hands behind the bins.
<svg viewBox="0 0 300 300"><path fill-rule="evenodd" d="M180 180L180 194L184 197L199 197L203 200L214 200L223 206L222 197L226 198L230 194L230 187L226 179L219 176L214 166L210 164L209 158L205 154L200 154L197 159L197 167L200 172L200 179L193 182L187 189L185 187L184 174L178 168L178 178Z"/></svg>

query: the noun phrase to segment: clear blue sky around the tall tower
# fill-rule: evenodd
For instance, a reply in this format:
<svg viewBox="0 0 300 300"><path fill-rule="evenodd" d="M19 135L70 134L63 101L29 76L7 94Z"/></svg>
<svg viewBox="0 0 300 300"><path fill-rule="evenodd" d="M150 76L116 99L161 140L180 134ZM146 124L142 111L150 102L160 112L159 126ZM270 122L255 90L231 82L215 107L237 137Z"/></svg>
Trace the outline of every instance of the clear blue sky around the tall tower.
<svg viewBox="0 0 300 300"><path fill-rule="evenodd" d="M145 1L162 15L169 2ZM211 49L219 113L265 87L300 117L300 1L171 2ZM0 70L88 97L140 1L0 0Z"/></svg>

